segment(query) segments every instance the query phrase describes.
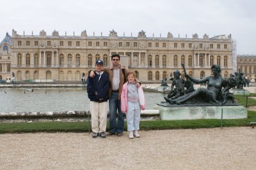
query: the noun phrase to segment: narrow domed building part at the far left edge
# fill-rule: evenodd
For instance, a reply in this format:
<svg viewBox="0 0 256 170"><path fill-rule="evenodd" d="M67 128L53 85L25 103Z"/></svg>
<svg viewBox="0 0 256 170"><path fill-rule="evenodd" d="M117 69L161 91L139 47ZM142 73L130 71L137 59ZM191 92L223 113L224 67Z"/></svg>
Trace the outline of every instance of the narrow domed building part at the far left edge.
<svg viewBox="0 0 256 170"><path fill-rule="evenodd" d="M6 33L0 43L0 80L11 78L12 36Z"/></svg>

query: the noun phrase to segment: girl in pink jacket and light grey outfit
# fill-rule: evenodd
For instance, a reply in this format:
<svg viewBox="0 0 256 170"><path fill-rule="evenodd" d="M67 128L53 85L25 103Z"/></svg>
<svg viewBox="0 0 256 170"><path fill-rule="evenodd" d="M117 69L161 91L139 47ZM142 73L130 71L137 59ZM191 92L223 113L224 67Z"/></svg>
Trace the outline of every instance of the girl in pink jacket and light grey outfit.
<svg viewBox="0 0 256 170"><path fill-rule="evenodd" d="M136 86L136 75L134 72L129 72L127 82L123 85L121 94L121 110L126 114L127 131L129 138L140 138L138 130L140 129L140 112L145 110L145 97L143 88Z"/></svg>

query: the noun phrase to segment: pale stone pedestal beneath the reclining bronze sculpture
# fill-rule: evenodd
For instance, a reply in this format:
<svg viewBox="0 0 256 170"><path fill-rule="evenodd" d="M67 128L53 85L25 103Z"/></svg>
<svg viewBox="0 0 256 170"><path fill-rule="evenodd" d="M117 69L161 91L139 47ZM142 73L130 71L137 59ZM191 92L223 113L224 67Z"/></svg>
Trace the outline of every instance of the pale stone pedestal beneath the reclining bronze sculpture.
<svg viewBox="0 0 256 170"><path fill-rule="evenodd" d="M223 119L247 118L247 110L242 105L235 106L182 106L170 107L155 105L160 111L161 120L195 120L195 119Z"/></svg>

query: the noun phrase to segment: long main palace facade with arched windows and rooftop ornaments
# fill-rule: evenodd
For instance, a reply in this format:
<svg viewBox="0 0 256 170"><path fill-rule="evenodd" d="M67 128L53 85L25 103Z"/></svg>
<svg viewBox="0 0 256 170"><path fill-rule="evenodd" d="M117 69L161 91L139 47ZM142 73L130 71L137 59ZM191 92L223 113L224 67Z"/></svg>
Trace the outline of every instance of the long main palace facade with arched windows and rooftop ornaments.
<svg viewBox="0 0 256 170"><path fill-rule="evenodd" d="M64 36L58 31L51 35L44 30L39 35L17 34L12 31L12 71L19 80L32 81L77 81L81 74L95 67L95 60L101 59L105 66L111 66L111 55L119 53L121 64L135 71L140 81L156 82L170 78L176 69L186 71L195 78L211 74L211 65L218 64L222 76L234 73L234 48L231 35L214 36L207 34L198 38L173 38L146 36L145 31L137 36L118 36L109 31L109 36L81 35Z"/></svg>

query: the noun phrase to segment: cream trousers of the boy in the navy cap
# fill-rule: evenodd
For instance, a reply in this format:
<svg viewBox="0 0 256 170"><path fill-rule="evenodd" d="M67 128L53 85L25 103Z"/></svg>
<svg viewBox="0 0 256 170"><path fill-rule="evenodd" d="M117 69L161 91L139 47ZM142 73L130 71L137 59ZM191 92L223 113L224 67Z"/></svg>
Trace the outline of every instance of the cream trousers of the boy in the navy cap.
<svg viewBox="0 0 256 170"><path fill-rule="evenodd" d="M108 102L98 103L90 101L90 110L92 115L92 131L95 133L106 132Z"/></svg>

